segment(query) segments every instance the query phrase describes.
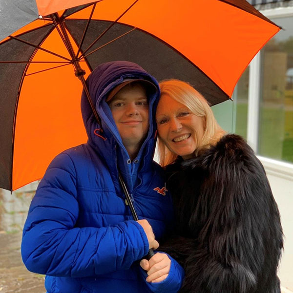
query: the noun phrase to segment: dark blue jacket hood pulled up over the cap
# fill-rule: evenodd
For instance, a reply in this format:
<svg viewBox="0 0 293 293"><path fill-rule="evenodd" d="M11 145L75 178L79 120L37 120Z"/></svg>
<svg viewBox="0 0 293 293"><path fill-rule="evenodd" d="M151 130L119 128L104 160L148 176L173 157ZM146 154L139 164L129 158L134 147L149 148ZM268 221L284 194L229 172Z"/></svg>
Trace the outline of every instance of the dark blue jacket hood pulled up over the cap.
<svg viewBox="0 0 293 293"><path fill-rule="evenodd" d="M129 155L122 143L111 110L105 102L109 92L126 79L146 80L154 84L157 88L156 93L148 95L149 129L145 142L132 163L130 163ZM133 176L136 176L138 170L143 170L144 166L152 162L156 133L155 110L160 96L159 84L154 77L148 74L138 64L127 61L114 61L100 64L88 76L86 84L102 124L98 125L95 120L85 92L83 91L81 108L84 126L88 136L88 144L99 152L99 155L105 159L110 169L114 168L117 170L117 167L119 167L124 179L129 181L127 185L130 188L129 185L132 186L130 182L135 181L133 181ZM103 132L96 130L101 128Z"/></svg>

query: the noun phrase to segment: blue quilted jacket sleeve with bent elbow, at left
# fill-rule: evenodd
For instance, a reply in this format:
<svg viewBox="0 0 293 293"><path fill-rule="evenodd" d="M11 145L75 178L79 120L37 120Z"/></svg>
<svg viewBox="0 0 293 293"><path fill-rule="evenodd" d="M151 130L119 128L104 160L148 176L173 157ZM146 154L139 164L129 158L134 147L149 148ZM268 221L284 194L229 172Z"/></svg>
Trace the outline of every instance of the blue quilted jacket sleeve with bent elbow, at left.
<svg viewBox="0 0 293 293"><path fill-rule="evenodd" d="M128 269L148 251L135 221L112 227L76 228L79 214L76 172L68 154L48 167L23 229L21 255L31 272L85 277Z"/></svg>

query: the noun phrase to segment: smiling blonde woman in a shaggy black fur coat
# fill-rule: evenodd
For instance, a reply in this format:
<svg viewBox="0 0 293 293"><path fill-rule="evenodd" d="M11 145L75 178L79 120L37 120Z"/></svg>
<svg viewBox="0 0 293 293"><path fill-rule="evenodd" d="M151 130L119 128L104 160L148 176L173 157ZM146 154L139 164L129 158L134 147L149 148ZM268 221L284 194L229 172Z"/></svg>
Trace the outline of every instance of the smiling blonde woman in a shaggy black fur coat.
<svg viewBox="0 0 293 293"><path fill-rule="evenodd" d="M193 87L160 87L159 156L176 217L176 235L160 250L185 269L180 292L280 292L283 235L263 166L242 137L218 126Z"/></svg>

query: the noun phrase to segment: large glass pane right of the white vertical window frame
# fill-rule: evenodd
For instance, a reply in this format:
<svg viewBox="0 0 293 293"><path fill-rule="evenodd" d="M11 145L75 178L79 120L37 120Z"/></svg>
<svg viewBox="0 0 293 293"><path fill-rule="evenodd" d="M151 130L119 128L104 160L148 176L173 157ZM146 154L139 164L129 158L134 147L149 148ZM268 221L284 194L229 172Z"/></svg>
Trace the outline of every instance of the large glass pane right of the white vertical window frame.
<svg viewBox="0 0 293 293"><path fill-rule="evenodd" d="M293 162L293 17L262 50L258 153Z"/></svg>

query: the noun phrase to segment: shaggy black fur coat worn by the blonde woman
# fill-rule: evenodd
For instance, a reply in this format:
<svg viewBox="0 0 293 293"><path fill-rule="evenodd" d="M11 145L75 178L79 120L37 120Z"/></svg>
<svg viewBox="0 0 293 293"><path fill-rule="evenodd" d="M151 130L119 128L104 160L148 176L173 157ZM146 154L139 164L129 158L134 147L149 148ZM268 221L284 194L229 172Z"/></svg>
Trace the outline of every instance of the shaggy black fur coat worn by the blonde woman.
<svg viewBox="0 0 293 293"><path fill-rule="evenodd" d="M265 170L238 135L167 167L175 235L160 246L185 269L182 293L279 293L283 233Z"/></svg>

